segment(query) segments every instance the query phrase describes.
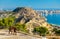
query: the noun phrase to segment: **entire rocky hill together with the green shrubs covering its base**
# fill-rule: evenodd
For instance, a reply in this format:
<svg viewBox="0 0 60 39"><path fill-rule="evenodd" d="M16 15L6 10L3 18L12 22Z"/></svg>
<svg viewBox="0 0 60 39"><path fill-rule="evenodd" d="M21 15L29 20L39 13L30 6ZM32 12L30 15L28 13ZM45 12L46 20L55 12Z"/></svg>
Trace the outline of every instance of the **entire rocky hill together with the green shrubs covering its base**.
<svg viewBox="0 0 60 39"><path fill-rule="evenodd" d="M52 26L46 22L45 18L31 8L17 7L9 14L6 13L6 16L0 19L0 28L15 26L18 30L30 34L35 32L46 34L47 31L52 30Z"/></svg>

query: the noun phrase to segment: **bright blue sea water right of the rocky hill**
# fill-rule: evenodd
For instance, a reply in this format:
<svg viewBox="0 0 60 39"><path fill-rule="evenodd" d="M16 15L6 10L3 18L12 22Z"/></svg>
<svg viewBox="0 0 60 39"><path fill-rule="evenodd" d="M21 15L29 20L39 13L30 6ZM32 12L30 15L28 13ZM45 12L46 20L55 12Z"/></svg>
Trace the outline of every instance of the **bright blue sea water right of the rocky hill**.
<svg viewBox="0 0 60 39"><path fill-rule="evenodd" d="M60 13L48 14L45 16L50 24L60 25Z"/></svg>

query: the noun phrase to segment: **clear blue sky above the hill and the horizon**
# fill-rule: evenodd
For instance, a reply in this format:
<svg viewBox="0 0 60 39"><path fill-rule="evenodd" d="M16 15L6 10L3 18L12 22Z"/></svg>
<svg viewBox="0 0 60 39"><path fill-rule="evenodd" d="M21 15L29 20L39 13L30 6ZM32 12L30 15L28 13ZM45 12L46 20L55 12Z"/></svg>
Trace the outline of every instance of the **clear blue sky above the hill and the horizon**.
<svg viewBox="0 0 60 39"><path fill-rule="evenodd" d="M60 0L0 0L0 9L14 9L16 7L60 9Z"/></svg>

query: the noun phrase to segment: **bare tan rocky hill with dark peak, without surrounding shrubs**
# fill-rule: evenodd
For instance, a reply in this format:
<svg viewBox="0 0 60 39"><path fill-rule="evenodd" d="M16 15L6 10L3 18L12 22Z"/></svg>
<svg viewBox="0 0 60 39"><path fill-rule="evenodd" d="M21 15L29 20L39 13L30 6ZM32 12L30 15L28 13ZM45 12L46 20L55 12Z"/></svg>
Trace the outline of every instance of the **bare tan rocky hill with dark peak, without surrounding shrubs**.
<svg viewBox="0 0 60 39"><path fill-rule="evenodd" d="M37 26L44 26L51 28L51 26L46 22L44 17L41 17L35 10L26 7L18 7L15 10L15 16L17 18L16 22L21 24L26 24L27 29L32 30Z"/></svg>

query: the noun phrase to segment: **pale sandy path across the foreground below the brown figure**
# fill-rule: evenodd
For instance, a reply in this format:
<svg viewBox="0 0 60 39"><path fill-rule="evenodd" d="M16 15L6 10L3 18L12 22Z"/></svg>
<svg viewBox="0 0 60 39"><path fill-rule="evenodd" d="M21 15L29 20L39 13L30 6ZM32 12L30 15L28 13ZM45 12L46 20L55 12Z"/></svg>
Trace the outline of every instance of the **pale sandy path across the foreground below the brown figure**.
<svg viewBox="0 0 60 39"><path fill-rule="evenodd" d="M40 38L25 35L22 33L18 33L17 35L9 35L8 31L0 30L0 39L40 39Z"/></svg>

